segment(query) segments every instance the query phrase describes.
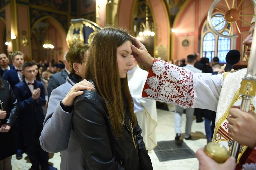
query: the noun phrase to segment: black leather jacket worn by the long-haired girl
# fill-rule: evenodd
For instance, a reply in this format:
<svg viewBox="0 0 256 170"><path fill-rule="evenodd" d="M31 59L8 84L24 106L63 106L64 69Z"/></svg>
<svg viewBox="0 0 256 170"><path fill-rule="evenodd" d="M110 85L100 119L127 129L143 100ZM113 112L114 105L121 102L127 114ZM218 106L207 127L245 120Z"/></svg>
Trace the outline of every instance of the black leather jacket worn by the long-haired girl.
<svg viewBox="0 0 256 170"><path fill-rule="evenodd" d="M124 103L128 111L127 102ZM135 128L131 128L129 112L125 113L120 138L113 131L105 102L97 91L85 90L76 97L73 112L74 132L86 159L86 169L153 169L141 128L138 123Z"/></svg>

